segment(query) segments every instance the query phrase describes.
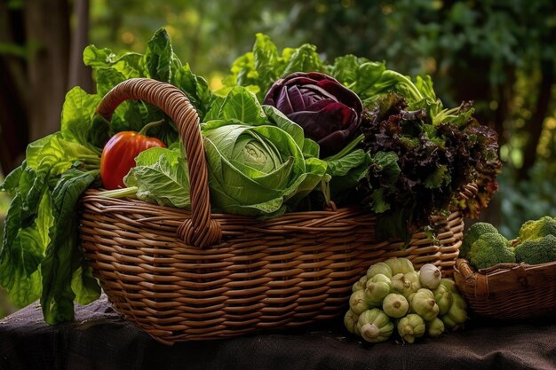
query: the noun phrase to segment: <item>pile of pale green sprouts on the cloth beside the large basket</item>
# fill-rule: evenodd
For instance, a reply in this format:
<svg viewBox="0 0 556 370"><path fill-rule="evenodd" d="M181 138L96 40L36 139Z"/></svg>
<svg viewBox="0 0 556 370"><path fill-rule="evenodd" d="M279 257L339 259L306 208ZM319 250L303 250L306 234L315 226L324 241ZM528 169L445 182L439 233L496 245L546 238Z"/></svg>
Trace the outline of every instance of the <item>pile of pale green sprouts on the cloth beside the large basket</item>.
<svg viewBox="0 0 556 370"><path fill-rule="evenodd" d="M452 279L433 264L417 272L407 258L373 264L353 284L347 330L367 342L384 342L397 331L405 342L420 336L439 336L462 327L466 303Z"/></svg>

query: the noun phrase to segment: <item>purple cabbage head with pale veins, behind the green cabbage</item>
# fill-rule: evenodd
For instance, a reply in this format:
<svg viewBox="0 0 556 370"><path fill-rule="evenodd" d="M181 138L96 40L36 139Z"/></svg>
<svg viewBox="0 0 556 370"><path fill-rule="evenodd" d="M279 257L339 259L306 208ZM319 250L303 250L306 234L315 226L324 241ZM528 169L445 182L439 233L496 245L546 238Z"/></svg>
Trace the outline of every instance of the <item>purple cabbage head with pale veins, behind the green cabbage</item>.
<svg viewBox="0 0 556 370"><path fill-rule="evenodd" d="M294 73L276 81L264 104L275 106L321 146L321 158L337 154L359 132L361 99L329 75Z"/></svg>

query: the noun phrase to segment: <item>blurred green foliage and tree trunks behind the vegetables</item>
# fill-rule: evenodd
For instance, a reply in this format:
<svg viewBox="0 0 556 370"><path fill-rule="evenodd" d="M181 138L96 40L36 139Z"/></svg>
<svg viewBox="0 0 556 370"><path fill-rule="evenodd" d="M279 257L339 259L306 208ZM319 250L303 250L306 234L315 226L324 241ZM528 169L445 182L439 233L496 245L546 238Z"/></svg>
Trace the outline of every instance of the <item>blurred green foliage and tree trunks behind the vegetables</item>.
<svg viewBox="0 0 556 370"><path fill-rule="evenodd" d="M314 43L326 59L353 53L406 75L432 75L448 106L473 100L477 118L498 132L504 162L482 218L512 238L524 221L556 216L551 0L9 0L0 25L4 174L29 141L58 130L65 91L91 90L90 71L79 64L87 43L144 51L166 28L179 58L217 89L262 32L279 48Z"/></svg>

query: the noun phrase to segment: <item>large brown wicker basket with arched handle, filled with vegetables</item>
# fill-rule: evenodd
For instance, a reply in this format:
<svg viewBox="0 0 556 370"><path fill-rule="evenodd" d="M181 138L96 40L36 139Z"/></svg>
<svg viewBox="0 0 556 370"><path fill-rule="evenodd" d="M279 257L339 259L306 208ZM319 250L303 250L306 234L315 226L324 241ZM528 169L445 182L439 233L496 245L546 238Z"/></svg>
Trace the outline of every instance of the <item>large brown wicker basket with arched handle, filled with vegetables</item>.
<svg viewBox="0 0 556 370"><path fill-rule="evenodd" d="M214 339L338 317L353 282L391 256L452 274L464 229L457 211L432 217L436 240L417 233L408 248L376 242L375 217L359 207L266 221L211 214L199 121L186 96L169 84L131 79L108 92L98 113L110 119L128 98L161 107L178 125L192 210L91 189L82 199L80 238L115 310L156 340Z"/></svg>

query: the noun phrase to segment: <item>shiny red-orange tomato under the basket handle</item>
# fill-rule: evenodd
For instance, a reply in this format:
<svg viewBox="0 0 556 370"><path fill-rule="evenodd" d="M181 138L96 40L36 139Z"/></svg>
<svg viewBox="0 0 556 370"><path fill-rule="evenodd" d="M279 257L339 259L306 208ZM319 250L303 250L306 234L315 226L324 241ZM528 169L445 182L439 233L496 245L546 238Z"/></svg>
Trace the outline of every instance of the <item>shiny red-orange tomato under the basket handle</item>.
<svg viewBox="0 0 556 370"><path fill-rule="evenodd" d="M135 167L135 157L153 146L166 147L158 138L148 138L139 132L122 131L115 134L100 155L100 178L106 189L125 187L123 177Z"/></svg>

